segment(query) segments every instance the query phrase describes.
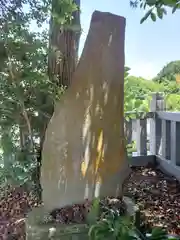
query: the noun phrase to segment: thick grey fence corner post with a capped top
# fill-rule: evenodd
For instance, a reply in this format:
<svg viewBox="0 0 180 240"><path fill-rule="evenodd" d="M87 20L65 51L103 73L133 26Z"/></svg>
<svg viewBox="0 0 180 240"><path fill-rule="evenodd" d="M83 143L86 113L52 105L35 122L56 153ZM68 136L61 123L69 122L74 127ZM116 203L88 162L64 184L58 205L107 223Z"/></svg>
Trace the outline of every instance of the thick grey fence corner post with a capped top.
<svg viewBox="0 0 180 240"><path fill-rule="evenodd" d="M155 113L150 119L150 153L158 155L161 145L162 122L156 116L157 111L165 110L165 102L162 93L153 93L150 111Z"/></svg>

